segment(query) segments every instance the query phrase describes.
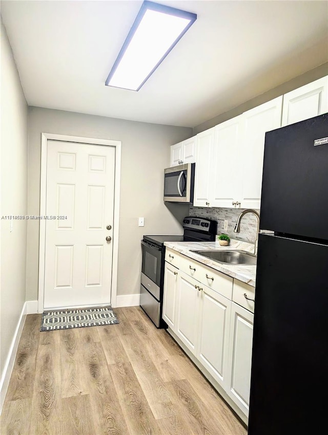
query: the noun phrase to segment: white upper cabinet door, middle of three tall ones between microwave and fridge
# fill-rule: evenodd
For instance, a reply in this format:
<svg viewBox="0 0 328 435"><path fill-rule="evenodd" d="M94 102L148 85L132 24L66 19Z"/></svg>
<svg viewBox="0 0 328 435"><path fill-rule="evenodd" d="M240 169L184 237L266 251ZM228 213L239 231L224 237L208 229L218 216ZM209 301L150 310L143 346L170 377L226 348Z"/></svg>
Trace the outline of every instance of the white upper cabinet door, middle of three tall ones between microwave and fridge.
<svg viewBox="0 0 328 435"><path fill-rule="evenodd" d="M211 207L241 201L240 148L242 115L215 127Z"/></svg>

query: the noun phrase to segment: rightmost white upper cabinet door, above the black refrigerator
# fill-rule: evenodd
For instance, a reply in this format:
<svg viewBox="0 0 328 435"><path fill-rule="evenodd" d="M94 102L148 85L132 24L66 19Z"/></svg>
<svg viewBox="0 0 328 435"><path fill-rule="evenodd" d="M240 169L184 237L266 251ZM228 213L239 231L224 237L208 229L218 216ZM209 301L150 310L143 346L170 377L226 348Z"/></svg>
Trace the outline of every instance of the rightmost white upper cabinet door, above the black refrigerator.
<svg viewBox="0 0 328 435"><path fill-rule="evenodd" d="M283 96L282 126L328 112L328 76Z"/></svg>

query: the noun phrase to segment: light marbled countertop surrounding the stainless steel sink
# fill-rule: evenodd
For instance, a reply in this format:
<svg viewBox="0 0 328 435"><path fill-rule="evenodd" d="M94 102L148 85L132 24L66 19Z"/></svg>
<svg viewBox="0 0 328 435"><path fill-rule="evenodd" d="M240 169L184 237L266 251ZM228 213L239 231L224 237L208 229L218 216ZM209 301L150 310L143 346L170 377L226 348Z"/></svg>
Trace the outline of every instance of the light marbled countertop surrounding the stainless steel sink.
<svg viewBox="0 0 328 435"><path fill-rule="evenodd" d="M241 250L254 252L254 245L247 242L241 242L238 240L231 240L230 246L220 246L219 242L165 242L165 246L174 251L180 252L189 258L197 260L208 267L211 267L219 272L225 273L232 278L239 279L250 286L255 287L256 265L226 265L216 263L210 258L203 257L201 255L192 252L191 250L197 249L215 249L215 250Z"/></svg>

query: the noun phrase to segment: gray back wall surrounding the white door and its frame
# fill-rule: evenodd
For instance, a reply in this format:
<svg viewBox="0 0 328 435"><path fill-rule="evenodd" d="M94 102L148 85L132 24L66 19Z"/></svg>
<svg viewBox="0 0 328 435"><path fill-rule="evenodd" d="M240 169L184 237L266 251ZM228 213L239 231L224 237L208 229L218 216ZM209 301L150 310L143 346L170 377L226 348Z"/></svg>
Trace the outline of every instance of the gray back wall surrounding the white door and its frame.
<svg viewBox="0 0 328 435"><path fill-rule="evenodd" d="M170 145L192 129L29 107L28 214L39 215L41 133L122 142L117 295L139 293L144 234L182 234L188 205L163 203L163 168ZM138 227L138 216L145 227ZM27 300L37 299L39 222L28 222Z"/></svg>

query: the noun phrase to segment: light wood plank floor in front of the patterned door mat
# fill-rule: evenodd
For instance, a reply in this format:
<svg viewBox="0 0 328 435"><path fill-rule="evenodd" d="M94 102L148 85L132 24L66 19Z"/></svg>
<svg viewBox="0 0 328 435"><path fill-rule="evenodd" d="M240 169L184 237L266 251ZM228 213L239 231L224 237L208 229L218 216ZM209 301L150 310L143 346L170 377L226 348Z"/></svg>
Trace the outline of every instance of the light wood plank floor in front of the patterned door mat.
<svg viewBox="0 0 328 435"><path fill-rule="evenodd" d="M39 332L27 316L2 435L246 435L165 330L139 307L119 324Z"/></svg>

